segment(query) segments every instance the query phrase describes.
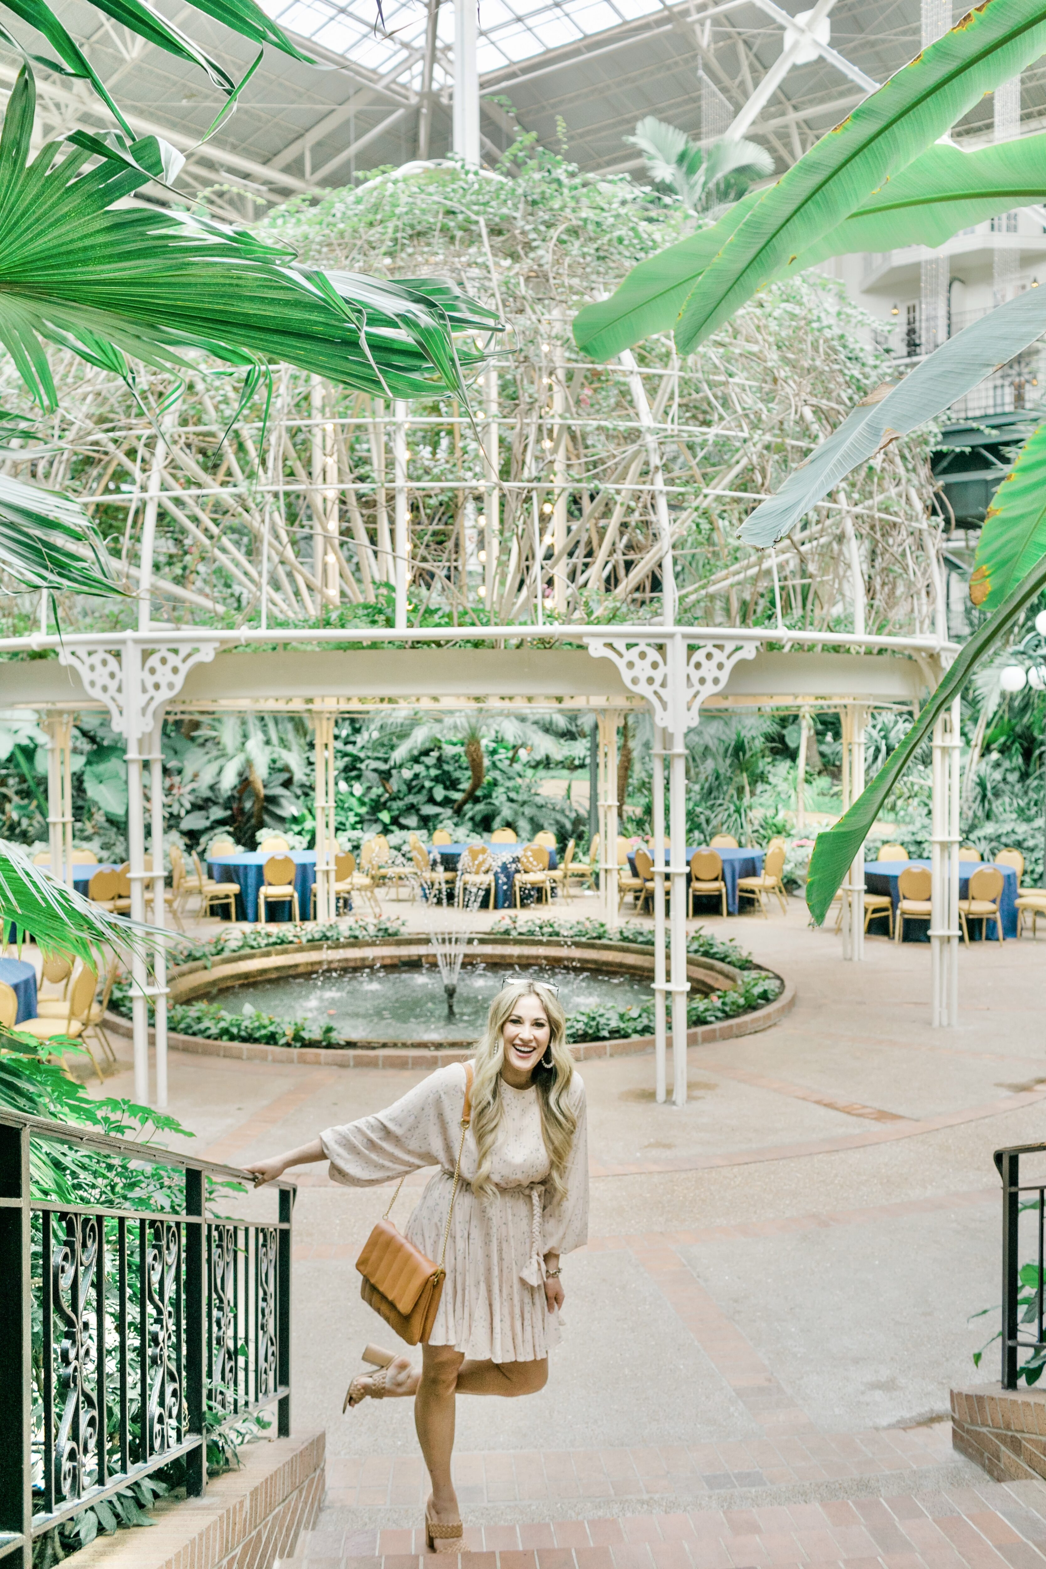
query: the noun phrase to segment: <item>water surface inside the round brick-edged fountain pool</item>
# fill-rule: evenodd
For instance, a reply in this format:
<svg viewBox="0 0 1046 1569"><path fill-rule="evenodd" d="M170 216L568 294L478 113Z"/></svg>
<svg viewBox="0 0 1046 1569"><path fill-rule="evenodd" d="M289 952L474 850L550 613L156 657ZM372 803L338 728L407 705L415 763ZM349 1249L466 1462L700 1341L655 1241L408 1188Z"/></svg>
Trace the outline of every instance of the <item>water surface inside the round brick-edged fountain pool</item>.
<svg viewBox="0 0 1046 1569"><path fill-rule="evenodd" d="M507 979L530 976L558 987L566 1014L587 1007L641 1006L651 999L641 974L579 970L568 965L466 963L458 979L453 1014L434 965L359 970L318 968L306 976L273 976L215 987L207 1001L227 1012L252 1009L276 1018L301 1020L318 1032L332 1025L345 1040L441 1042L475 1039L491 999Z"/></svg>

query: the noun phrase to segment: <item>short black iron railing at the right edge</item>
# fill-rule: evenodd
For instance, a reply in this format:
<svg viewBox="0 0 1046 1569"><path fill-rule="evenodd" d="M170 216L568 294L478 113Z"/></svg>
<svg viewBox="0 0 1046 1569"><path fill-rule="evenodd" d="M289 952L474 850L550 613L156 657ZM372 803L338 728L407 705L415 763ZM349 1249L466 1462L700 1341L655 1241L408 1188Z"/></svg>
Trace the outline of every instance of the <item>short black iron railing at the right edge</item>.
<svg viewBox="0 0 1046 1569"><path fill-rule="evenodd" d="M1046 1362L1043 1334L1043 1233L1046 1213L1046 1159L1021 1174L1021 1156L1046 1156L1046 1144L1019 1144L996 1150L1002 1177L1002 1387L1016 1389L1021 1378ZM1030 1379L1029 1382L1033 1382Z"/></svg>

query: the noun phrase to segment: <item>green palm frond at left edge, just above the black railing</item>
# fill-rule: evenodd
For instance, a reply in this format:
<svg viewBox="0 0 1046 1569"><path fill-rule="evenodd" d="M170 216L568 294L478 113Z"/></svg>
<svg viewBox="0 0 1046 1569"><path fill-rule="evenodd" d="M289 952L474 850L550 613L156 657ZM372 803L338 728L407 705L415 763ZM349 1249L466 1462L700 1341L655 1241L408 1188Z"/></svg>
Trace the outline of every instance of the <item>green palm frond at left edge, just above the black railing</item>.
<svg viewBox="0 0 1046 1569"><path fill-rule="evenodd" d="M20 844L0 841L0 930L16 926L42 954L71 954L97 968L104 949L147 954L162 934L110 915L74 888L52 882Z"/></svg>

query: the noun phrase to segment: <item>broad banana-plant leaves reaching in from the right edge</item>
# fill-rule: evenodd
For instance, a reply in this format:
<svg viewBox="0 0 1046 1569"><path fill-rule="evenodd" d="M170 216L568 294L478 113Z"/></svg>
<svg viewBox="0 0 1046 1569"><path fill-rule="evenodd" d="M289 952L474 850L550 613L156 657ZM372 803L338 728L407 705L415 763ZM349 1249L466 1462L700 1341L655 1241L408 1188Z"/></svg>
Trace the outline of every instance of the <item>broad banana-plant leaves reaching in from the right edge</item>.
<svg viewBox="0 0 1046 1569"><path fill-rule="evenodd" d="M955 174L958 163L953 158L941 160L935 154L922 171L916 171L908 195L903 191L903 179L899 179L900 206L894 204L894 187L888 188L884 182L916 163L928 144L947 132L982 93L1013 77L1044 49L1043 0L988 0L866 99L775 187L739 202L721 220L729 232L720 231L721 245L710 257L707 251L714 237L696 237L701 240L699 246L693 246L699 253L696 275L692 267L688 278L681 281L679 265L674 273L671 264L660 271L656 265L648 268L648 276L638 286L635 278L630 279L630 290L616 304L610 301L607 309L582 312L576 323L579 344L594 353L613 351L624 322L629 323L626 333L637 326L649 331L651 322L670 300L676 311L676 345L681 351L692 350L772 278L806 265L808 253L819 257L828 254L826 248L834 243L830 237L841 226L845 228L852 213L863 210L861 221L853 229L859 234L861 248L869 245L869 224L911 224L913 201L933 206L935 177L947 176L944 184L949 185L949 168ZM974 182L974 187L963 190L961 182L957 188L952 180L949 201L941 204L935 217L939 223L938 234L941 229L947 231L960 212L968 212L966 204L982 196L986 187L991 187L990 199L999 198L1007 188L1005 206L1010 206L1013 198L1008 190L1027 177L1029 157L1033 154L1029 155L1024 149L1016 155L996 149L991 165L979 168L980 187ZM1007 158L1011 169L1007 169ZM869 212L869 202L875 198L881 199L881 206ZM676 246L673 262L679 260ZM682 271L685 273L685 264ZM693 282L695 276L699 276L699 287ZM742 529L742 538L761 546L773 544L855 464L889 444L899 431L913 428L966 392L994 364L1005 362L1037 337L1044 322L1046 309L1040 306L1037 293L1029 290L997 308L975 329L961 333L928 356L900 388L883 386L866 397L844 425L819 446L803 469L786 482L781 493L753 513ZM806 885L808 904L817 921L823 919L880 808L938 715L960 695L977 661L1008 635L1046 584L1046 530L1041 527L1041 486L1037 483L1041 452L1043 444L1035 442L1018 460L982 540L972 593L977 602L997 607L996 615L968 642L924 706L917 723L861 799L834 828L817 836Z"/></svg>

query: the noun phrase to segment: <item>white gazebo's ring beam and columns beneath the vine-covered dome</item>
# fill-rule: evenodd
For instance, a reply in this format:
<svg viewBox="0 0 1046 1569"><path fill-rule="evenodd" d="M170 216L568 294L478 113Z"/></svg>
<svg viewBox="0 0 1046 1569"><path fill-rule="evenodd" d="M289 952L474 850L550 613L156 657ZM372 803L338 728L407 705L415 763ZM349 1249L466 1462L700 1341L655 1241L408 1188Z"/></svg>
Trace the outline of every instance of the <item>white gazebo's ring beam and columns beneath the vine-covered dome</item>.
<svg viewBox="0 0 1046 1569"><path fill-rule="evenodd" d="M353 648L351 645L369 645ZM458 646L442 646L455 643ZM278 650L273 651L273 645ZM331 648L329 645L340 645ZM347 646L348 645L348 646ZM375 648L375 645L378 645ZM386 645L386 646L383 646ZM392 646L387 646L392 645ZM566 645L566 646L565 646ZM784 646L783 646L784 645ZM848 648L848 653L841 653ZM583 708L599 717L601 894L618 912L618 717L648 706L654 720L656 1095L687 1098L685 736L701 709L834 708L844 723L844 806L864 788L864 728L873 708L916 709L955 646L941 635L872 637L786 628L666 624L199 631L146 623L121 634L36 634L0 640L0 706L35 709L50 739L52 868L72 882L69 731L72 715L105 709L127 742L132 915L163 924L165 714L282 709L311 715L317 748L317 918L332 915L332 725L373 704ZM33 653L35 659L19 659ZM41 659L41 653L53 653ZM14 657L13 657L14 656ZM668 759L668 767L665 767ZM151 769L152 871L146 869L143 770ZM666 777L665 777L666 775ZM932 1021L957 1023L958 714L933 733ZM665 857L665 850L668 857ZM671 899L665 916L663 879ZM844 885L844 959L864 956L864 872ZM135 962L135 1094L151 1097L147 996L155 1003L154 1101L166 1101L166 982ZM671 1039L671 1081L668 1042Z"/></svg>

